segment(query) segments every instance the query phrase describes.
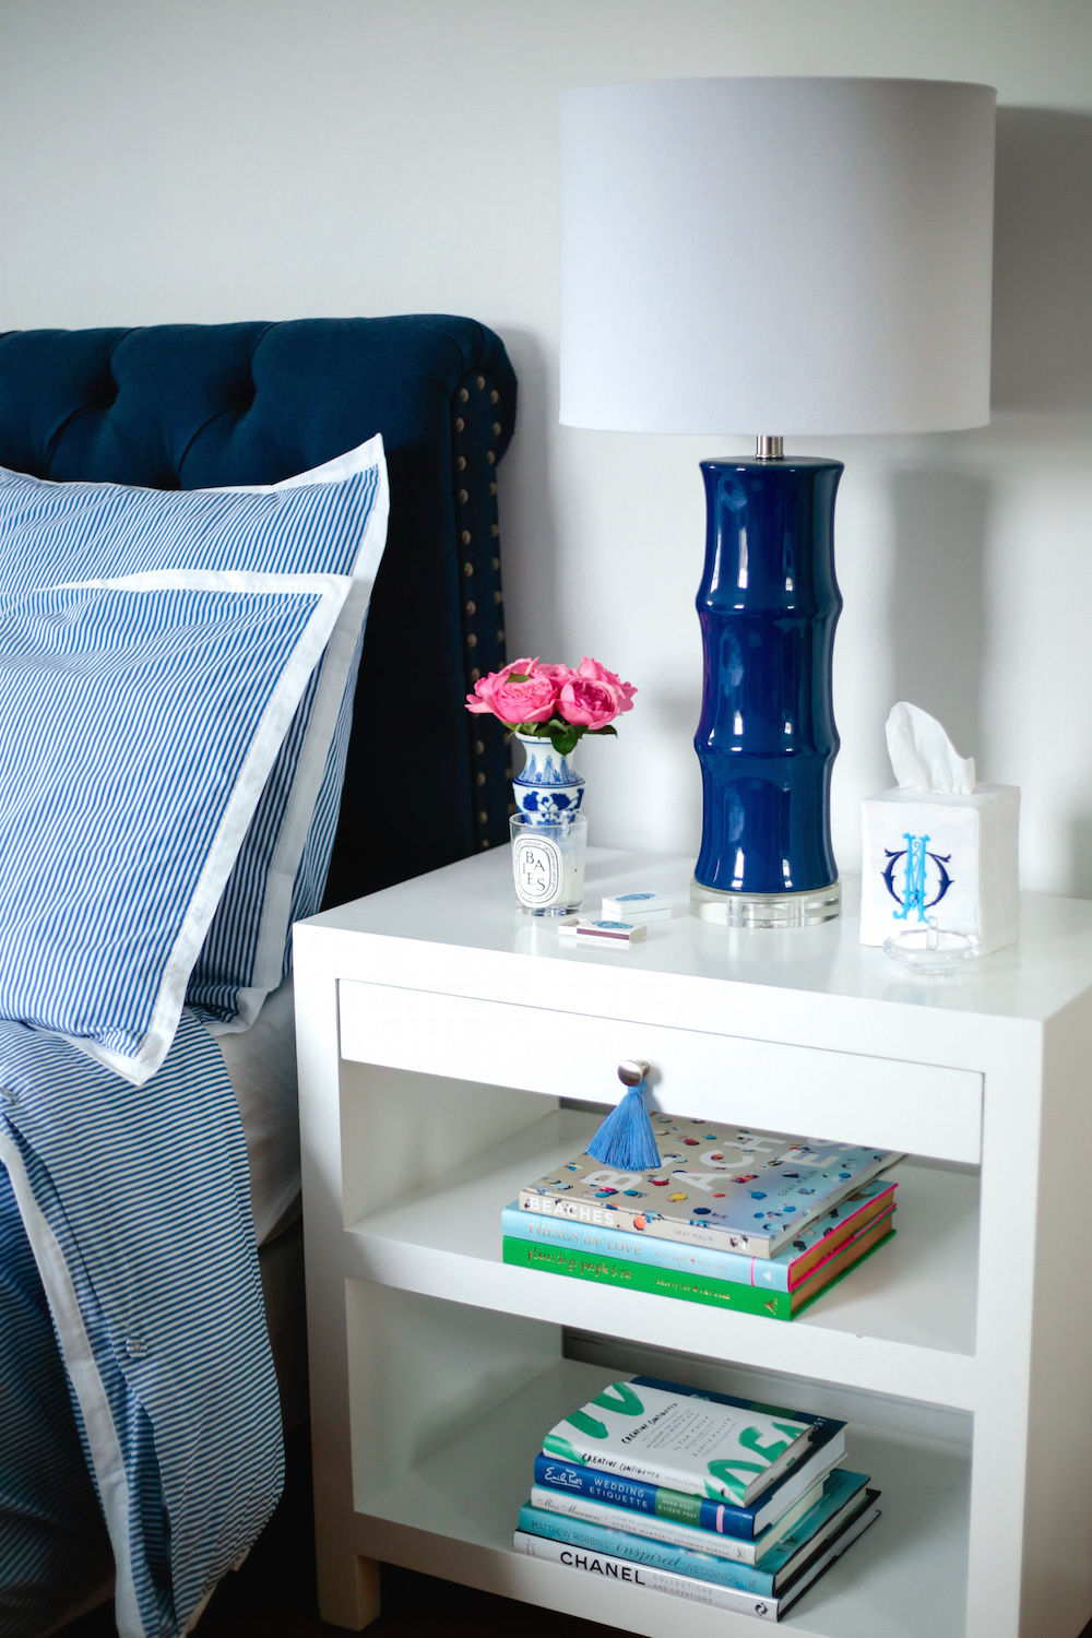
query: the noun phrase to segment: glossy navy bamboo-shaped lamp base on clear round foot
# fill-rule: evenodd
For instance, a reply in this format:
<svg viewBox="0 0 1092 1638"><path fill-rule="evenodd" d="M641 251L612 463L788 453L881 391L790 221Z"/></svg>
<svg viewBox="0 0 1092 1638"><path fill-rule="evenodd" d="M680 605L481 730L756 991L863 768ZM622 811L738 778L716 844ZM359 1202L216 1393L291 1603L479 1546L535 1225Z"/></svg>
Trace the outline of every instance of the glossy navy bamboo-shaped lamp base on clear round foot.
<svg viewBox="0 0 1092 1638"><path fill-rule="evenodd" d="M763 446L779 452L779 439ZM830 771L842 613L833 506L843 468L771 454L702 460L701 470L702 842L691 909L729 927L805 927L842 907Z"/></svg>

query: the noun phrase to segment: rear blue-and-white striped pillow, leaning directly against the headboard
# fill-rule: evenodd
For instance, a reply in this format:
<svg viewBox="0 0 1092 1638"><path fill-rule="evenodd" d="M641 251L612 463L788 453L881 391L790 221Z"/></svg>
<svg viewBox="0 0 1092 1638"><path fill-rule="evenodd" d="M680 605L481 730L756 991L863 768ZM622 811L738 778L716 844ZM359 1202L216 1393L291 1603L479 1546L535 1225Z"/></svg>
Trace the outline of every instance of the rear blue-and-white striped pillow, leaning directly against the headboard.
<svg viewBox="0 0 1092 1638"><path fill-rule="evenodd" d="M386 544L383 441L268 488L160 491L0 468L0 591L160 568L355 580L270 771L188 999L246 1029L285 973L290 922L319 907L337 826L363 622Z"/></svg>

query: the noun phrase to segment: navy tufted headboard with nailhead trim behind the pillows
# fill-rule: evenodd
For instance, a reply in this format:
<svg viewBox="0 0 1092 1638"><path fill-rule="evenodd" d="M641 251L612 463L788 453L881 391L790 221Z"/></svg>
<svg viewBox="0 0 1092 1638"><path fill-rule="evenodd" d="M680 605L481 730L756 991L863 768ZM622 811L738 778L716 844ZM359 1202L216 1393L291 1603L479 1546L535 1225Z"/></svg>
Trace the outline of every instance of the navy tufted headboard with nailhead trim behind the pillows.
<svg viewBox="0 0 1092 1638"><path fill-rule="evenodd" d="M465 318L0 334L0 465L151 488L277 483L383 434L391 524L327 904L508 839L504 735L463 696L504 663L498 336Z"/></svg>

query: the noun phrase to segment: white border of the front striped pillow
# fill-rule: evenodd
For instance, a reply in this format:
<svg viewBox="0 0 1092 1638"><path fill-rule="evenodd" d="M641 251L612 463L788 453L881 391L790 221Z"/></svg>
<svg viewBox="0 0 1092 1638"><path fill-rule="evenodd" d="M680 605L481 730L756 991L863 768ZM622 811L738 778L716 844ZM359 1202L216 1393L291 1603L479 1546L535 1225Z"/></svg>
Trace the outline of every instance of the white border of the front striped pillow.
<svg viewBox="0 0 1092 1638"><path fill-rule="evenodd" d="M185 916L164 963L151 1024L136 1053L115 1052L85 1035L62 1038L113 1070L129 1086L144 1086L170 1050L185 1004L185 991L210 922L216 912L228 876L239 855L242 839L259 804L277 753L291 726L296 706L337 626L354 588L349 575L262 575L250 570L156 570L142 575L120 575L105 580L72 580L43 588L54 591L234 591L249 595L305 593L318 596L318 604L303 627L288 663L265 703L250 745L239 768L234 790L205 855Z"/></svg>

